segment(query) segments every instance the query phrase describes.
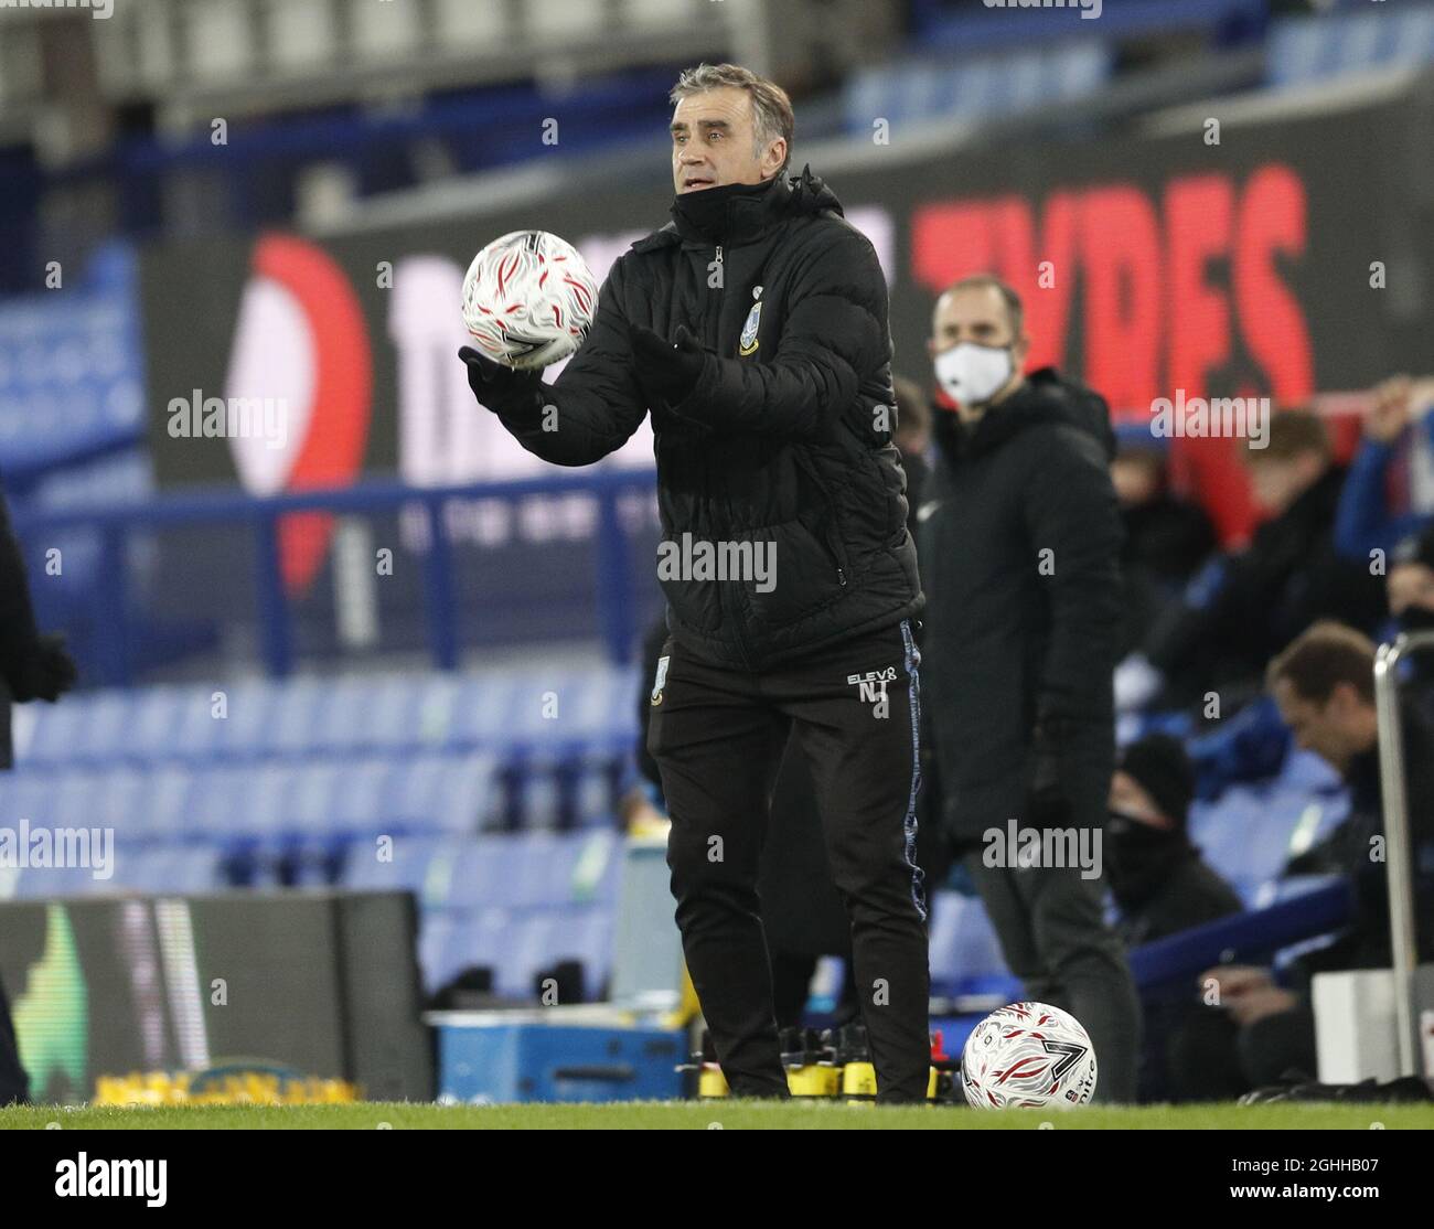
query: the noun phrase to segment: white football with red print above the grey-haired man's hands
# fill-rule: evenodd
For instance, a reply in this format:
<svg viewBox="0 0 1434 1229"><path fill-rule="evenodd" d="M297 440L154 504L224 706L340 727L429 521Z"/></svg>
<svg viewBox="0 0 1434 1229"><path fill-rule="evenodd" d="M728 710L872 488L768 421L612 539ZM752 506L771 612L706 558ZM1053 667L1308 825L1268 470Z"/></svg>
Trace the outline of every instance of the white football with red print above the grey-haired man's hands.
<svg viewBox="0 0 1434 1229"><path fill-rule="evenodd" d="M548 231L493 239L463 278L463 324L473 346L518 371L572 354L597 310L598 283L588 262Z"/></svg>

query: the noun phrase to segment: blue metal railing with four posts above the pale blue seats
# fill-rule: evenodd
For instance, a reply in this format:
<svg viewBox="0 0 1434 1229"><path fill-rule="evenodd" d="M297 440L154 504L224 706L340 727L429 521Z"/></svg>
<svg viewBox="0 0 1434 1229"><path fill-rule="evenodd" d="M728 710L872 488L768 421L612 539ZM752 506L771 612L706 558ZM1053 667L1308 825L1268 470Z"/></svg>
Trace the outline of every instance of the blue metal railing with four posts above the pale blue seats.
<svg viewBox="0 0 1434 1229"><path fill-rule="evenodd" d="M617 663L632 660L638 642L635 587L628 533L618 500L628 492L652 493L655 470L599 469L585 473L555 473L506 482L465 486L416 488L397 480L371 480L327 490L301 490L254 498L238 490L168 493L145 503L106 509L65 509L16 516L22 542L53 542L57 535L89 531L98 536L100 565L96 601L103 601L103 637L98 640L95 673L99 683L126 685L133 680L136 612L126 594L128 552L132 535L145 531L245 525L254 535L254 594L258 611L261 658L270 674L287 675L294 665L290 599L280 571L278 528L295 512L383 513L422 505L427 518L429 542L423 552L423 612L427 647L433 663L453 670L459 658L459 604L453 576L452 542L443 508L450 500L506 499L525 496L589 495L597 500L594 536L594 584L598 612L597 635Z"/></svg>

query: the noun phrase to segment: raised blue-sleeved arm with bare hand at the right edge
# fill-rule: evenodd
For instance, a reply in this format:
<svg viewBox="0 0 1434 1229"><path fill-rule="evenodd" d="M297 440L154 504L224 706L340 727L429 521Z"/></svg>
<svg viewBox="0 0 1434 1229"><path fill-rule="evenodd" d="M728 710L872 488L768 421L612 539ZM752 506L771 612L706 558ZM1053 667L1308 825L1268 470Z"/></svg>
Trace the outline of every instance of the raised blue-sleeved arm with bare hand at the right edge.
<svg viewBox="0 0 1434 1229"><path fill-rule="evenodd" d="M1390 506L1390 468L1400 445L1423 426L1434 449L1434 376L1411 380L1395 376L1374 390L1374 404L1364 419L1364 439L1349 465L1339 498L1335 546L1347 559L1368 565L1374 551L1388 554L1402 538L1417 533L1430 518L1417 512L1395 513Z"/></svg>

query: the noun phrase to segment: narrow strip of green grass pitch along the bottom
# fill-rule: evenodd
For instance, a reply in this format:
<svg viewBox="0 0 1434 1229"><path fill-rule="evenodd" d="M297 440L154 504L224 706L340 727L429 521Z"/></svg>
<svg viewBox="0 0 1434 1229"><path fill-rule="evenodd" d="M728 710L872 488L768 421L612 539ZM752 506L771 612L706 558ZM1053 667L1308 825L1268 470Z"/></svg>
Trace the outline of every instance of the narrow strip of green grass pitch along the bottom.
<svg viewBox="0 0 1434 1229"><path fill-rule="evenodd" d="M1430 1130L1434 1106L1136 1106L968 1110L952 1106L624 1101L615 1104L169 1106L0 1109L0 1130ZM1377 1126L1378 1124L1378 1126ZM50 1127L53 1129L53 1127Z"/></svg>

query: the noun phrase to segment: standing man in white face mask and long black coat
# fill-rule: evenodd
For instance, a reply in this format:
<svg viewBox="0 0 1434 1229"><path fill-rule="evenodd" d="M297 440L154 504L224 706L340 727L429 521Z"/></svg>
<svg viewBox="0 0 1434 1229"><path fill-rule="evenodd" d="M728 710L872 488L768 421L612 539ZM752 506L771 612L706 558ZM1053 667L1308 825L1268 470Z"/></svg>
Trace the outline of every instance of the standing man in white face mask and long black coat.
<svg viewBox="0 0 1434 1229"><path fill-rule="evenodd" d="M1096 1097L1133 1101L1140 1004L1101 881L1121 614L1114 439L1088 389L1050 367L1022 374L1028 348L1021 300L997 278L938 300L931 351L958 413L936 413L918 511L926 698L946 833L1007 964L1090 1033Z"/></svg>

